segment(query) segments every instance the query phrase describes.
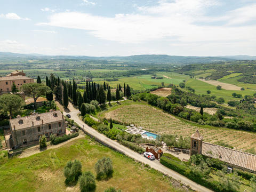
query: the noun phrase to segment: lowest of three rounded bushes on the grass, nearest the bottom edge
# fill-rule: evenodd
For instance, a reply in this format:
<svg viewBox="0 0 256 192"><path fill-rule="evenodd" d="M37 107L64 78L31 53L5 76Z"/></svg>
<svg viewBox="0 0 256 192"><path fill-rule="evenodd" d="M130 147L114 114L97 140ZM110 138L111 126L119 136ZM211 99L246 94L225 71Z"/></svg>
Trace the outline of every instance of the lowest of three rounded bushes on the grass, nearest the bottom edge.
<svg viewBox="0 0 256 192"><path fill-rule="evenodd" d="M96 187L94 175L90 172L84 172L78 179L81 192L91 191Z"/></svg>

